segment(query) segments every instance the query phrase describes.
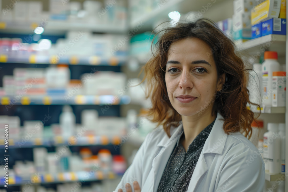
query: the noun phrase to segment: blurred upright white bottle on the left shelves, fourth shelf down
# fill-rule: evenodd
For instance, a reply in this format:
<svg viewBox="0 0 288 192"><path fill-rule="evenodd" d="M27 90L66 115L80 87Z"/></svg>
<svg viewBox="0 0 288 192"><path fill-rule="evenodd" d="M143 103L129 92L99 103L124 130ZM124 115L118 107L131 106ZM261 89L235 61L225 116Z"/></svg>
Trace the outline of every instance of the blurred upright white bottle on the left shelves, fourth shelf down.
<svg viewBox="0 0 288 192"><path fill-rule="evenodd" d="M64 139L68 139L74 134L76 126L76 118L69 105L65 105L62 109L62 113L59 117L60 127L62 130L62 136Z"/></svg>

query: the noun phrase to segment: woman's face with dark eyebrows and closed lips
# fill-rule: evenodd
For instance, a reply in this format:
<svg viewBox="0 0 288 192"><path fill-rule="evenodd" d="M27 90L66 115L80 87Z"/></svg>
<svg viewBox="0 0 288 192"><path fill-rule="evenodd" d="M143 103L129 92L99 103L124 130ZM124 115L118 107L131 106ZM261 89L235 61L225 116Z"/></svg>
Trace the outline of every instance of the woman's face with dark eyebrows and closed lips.
<svg viewBox="0 0 288 192"><path fill-rule="evenodd" d="M212 111L214 94L223 84L219 79L217 90L216 64L210 53L209 45L198 38L182 39L170 45L165 81L169 100L180 115ZM181 95L193 98L184 99Z"/></svg>

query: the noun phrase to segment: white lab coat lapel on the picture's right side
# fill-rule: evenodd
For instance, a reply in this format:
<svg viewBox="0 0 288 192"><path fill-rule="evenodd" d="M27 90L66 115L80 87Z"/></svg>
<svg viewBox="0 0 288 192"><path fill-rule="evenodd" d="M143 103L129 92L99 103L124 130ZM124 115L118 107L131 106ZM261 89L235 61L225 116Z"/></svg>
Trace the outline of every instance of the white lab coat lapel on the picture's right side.
<svg viewBox="0 0 288 192"><path fill-rule="evenodd" d="M207 162L205 161L206 153L217 153L222 154L223 149L225 147L227 134L223 130L224 121L223 116L218 112L214 125L211 129L211 132L203 146L203 150L199 156L196 167L192 174L188 190L189 192L193 192L198 184L200 178L203 174L208 170ZM211 163L213 159L210 159L209 163ZM209 166L210 167L210 166Z"/></svg>

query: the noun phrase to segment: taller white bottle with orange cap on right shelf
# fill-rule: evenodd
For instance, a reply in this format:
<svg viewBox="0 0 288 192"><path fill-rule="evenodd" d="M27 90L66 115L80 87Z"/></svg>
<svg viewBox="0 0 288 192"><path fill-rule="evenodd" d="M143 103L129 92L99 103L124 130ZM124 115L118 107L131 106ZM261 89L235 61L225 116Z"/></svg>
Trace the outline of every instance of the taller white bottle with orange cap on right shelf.
<svg viewBox="0 0 288 192"><path fill-rule="evenodd" d="M272 72L280 71L280 64L277 59L277 52L264 52L264 62L262 63L262 101L265 106L272 107Z"/></svg>

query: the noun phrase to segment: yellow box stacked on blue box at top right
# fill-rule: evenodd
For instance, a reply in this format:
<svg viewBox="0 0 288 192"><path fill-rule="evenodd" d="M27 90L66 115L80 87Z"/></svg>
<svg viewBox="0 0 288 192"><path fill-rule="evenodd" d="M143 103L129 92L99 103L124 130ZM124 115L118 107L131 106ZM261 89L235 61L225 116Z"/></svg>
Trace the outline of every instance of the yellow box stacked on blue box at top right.
<svg viewBox="0 0 288 192"><path fill-rule="evenodd" d="M278 18L281 0L266 0L251 9L251 24L255 25L266 18Z"/></svg>

